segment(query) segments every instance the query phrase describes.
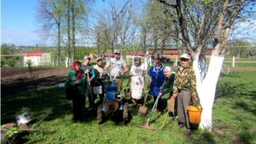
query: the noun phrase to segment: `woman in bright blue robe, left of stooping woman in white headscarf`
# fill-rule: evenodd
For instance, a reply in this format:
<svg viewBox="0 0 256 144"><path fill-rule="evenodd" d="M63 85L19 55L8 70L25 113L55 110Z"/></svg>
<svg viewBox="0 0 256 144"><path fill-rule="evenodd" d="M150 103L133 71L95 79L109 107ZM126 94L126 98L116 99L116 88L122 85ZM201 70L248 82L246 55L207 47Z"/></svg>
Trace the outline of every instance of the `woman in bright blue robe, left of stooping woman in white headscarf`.
<svg viewBox="0 0 256 144"><path fill-rule="evenodd" d="M165 75L164 75L164 69L166 66L162 66L161 64L161 58L155 57L154 59L155 66L151 66L148 71L148 95L154 95L154 102L157 100L157 96L160 93L160 87L163 86L165 82ZM157 111L159 115L162 113L162 107L161 107L161 97L158 100L157 103Z"/></svg>

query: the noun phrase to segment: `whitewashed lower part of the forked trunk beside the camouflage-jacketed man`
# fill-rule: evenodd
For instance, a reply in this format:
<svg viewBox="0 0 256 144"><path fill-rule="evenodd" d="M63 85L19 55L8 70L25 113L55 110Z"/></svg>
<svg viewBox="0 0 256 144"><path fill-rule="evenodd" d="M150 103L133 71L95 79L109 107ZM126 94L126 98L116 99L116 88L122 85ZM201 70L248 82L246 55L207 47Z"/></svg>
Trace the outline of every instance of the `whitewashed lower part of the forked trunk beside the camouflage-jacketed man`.
<svg viewBox="0 0 256 144"><path fill-rule="evenodd" d="M212 55L206 78L203 81L201 81L198 58L195 58L193 61L196 75L196 90L201 101L201 107L203 108L201 113L201 129L207 128L212 131L212 106L223 61L224 57Z"/></svg>

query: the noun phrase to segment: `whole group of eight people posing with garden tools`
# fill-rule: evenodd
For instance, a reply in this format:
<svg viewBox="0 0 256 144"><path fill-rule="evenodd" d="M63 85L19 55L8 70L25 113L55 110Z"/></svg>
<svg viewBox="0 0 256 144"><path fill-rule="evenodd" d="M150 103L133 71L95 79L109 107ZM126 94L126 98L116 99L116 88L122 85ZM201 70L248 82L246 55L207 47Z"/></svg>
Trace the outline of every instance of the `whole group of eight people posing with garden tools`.
<svg viewBox="0 0 256 144"><path fill-rule="evenodd" d="M116 76L115 84L118 90L123 87L123 74L128 72L128 66L125 60L120 59L119 49L114 49L113 58L108 60L106 66L102 66L102 58L96 59L96 65L90 65L90 55L84 56L84 63L73 62L73 68L68 73L66 86L76 86L79 89L79 95L73 98L73 120L81 120L82 112L85 110L85 95L88 95L90 101L89 109L94 107L96 95L93 94L92 86L102 85L106 70L111 67L111 76ZM170 66L163 66L160 57L155 57L155 65L151 66L147 73L147 67L141 64L139 57L134 58L134 65L131 66L131 101L133 106L142 103L144 84L147 84L148 95L154 96L154 102L157 101L156 112L162 114L162 99L168 95L168 99L175 99L175 112L178 127L186 126L185 135L192 134L189 124L187 107L192 101L197 101L195 71L189 66L190 56L183 54L180 56L181 66L177 67L177 72L173 72ZM120 71L121 70L121 71ZM148 83L145 81L145 75L148 74ZM100 102L103 102L104 94L100 95ZM159 97L159 98L158 98Z"/></svg>

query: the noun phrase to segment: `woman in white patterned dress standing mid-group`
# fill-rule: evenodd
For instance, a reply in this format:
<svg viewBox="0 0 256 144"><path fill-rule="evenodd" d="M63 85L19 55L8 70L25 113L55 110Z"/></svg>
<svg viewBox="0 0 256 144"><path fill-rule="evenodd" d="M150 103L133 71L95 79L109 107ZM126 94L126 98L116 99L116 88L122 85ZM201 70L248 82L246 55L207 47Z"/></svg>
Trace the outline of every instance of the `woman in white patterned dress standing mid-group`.
<svg viewBox="0 0 256 144"><path fill-rule="evenodd" d="M139 100L142 99L144 90L144 76L146 75L145 66L141 65L141 58L134 58L134 66L131 66L131 101L133 106L137 106Z"/></svg>

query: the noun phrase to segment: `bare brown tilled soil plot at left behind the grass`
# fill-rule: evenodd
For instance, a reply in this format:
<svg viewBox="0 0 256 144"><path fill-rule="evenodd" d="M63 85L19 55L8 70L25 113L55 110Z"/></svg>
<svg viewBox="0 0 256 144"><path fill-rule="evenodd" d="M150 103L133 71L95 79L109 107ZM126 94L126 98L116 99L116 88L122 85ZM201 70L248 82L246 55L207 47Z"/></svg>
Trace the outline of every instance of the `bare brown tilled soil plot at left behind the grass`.
<svg viewBox="0 0 256 144"><path fill-rule="evenodd" d="M64 83L70 68L40 68L38 89ZM20 91L34 89L26 68L1 68L1 95L14 95Z"/></svg>

